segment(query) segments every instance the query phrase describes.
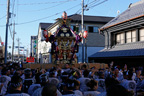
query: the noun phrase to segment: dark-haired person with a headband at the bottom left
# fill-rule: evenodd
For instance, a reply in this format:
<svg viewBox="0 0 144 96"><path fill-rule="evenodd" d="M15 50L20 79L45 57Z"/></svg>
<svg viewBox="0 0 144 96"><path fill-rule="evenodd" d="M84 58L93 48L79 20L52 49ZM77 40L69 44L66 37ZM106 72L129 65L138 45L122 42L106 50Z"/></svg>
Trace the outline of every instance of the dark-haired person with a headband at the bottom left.
<svg viewBox="0 0 144 96"><path fill-rule="evenodd" d="M22 79L20 76L13 76L10 82L10 90L6 96L30 96L26 93L22 93Z"/></svg>

